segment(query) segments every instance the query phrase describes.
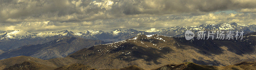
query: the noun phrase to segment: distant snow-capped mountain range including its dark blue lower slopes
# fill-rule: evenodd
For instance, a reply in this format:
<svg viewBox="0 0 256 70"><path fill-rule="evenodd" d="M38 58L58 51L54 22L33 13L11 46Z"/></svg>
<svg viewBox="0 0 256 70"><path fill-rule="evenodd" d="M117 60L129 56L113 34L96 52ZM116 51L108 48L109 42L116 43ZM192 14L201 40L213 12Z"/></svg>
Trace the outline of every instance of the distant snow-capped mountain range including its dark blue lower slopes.
<svg viewBox="0 0 256 70"><path fill-rule="evenodd" d="M184 32L190 30L192 32L198 31L244 31L246 33L255 32L256 25L236 24L236 23L222 23L222 24L202 24L199 26L175 26L166 29L151 28L147 31L137 31L134 29L127 29L122 31L120 29L104 32L104 31L85 31L72 32L63 30L60 32L46 32L46 33L31 33L23 30L0 32L0 50L9 51L20 46L36 45L49 42L54 39L68 37L80 37L84 39L98 39L105 42L121 41L130 39L137 35L151 35L158 34L172 37L183 37ZM14 44L15 43L15 44Z"/></svg>

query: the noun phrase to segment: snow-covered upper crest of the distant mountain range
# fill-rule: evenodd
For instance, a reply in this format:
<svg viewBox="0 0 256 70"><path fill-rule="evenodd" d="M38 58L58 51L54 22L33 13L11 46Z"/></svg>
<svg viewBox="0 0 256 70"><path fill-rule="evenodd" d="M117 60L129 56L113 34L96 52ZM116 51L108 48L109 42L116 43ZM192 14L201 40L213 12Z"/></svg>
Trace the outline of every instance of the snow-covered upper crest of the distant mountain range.
<svg viewBox="0 0 256 70"><path fill-rule="evenodd" d="M253 29L253 28L254 29ZM159 35L161 35L161 32L164 31L170 31L170 30L177 30L177 29L186 29L186 30L190 30L190 31L194 31L194 30L240 30L240 29L246 29L248 28L249 30L252 31L256 31L255 29L255 24L251 24L251 25L246 25L246 24L237 24L237 23L221 23L221 24L202 24L202 25L198 25L198 26L174 26L174 27L169 27L166 29L158 29L158 28L150 28L147 31L137 31L134 29L127 29L125 31L122 31L120 29L116 29L114 31L111 32L104 32L102 30L100 31L85 31L85 32L72 32L72 31L68 31L68 30L63 30L63 31L59 31L59 32L45 32L45 33L31 33L28 31L23 31L23 30L15 30L15 31L4 31L4 32L0 32L0 35L3 36L7 36L9 39L24 39L27 36L30 36L31 38L44 38L47 36L54 36L54 35L63 35L63 36L68 36L71 34L71 37L81 37L81 38L85 38L83 36L86 36L88 34L101 34L101 33L108 33L110 35L113 35L112 37L115 37L118 33L131 33L131 32L148 32L150 34L154 34L151 32L155 32L155 33L160 33ZM165 36L172 36L172 35L165 35ZM1 37L0 39L3 39L3 37Z"/></svg>

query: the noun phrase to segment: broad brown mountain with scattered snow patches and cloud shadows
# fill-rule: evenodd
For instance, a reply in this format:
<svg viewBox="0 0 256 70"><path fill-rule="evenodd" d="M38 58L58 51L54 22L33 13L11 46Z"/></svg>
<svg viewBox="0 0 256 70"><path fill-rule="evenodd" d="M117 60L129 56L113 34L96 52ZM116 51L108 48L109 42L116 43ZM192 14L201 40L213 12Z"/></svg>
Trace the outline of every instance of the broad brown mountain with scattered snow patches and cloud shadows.
<svg viewBox="0 0 256 70"><path fill-rule="evenodd" d="M123 41L84 48L65 58L42 60L27 56L12 57L0 60L0 69L12 68L25 61L40 63L52 69L63 66L67 68L65 66L72 64L96 69L120 69L136 65L148 70L164 68L170 64L175 65L171 68L178 69L191 69L190 66L196 69L246 69L253 68L255 63L238 63L255 61L255 46L256 32L244 35L242 40L186 40L184 37L157 34L138 35Z"/></svg>

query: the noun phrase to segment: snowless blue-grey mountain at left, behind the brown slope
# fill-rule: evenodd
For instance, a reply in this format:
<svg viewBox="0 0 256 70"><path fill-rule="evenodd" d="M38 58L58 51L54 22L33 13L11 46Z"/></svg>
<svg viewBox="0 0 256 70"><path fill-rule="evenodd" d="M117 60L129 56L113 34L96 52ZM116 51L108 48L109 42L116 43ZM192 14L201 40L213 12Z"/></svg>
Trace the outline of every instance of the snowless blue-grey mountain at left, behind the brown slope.
<svg viewBox="0 0 256 70"><path fill-rule="evenodd" d="M44 44L26 45L9 52L2 53L0 59L6 59L16 56L31 56L48 60L52 58L66 57L83 48L91 46L108 44L111 42L103 42L101 40L91 40L74 37L64 37L55 39Z"/></svg>

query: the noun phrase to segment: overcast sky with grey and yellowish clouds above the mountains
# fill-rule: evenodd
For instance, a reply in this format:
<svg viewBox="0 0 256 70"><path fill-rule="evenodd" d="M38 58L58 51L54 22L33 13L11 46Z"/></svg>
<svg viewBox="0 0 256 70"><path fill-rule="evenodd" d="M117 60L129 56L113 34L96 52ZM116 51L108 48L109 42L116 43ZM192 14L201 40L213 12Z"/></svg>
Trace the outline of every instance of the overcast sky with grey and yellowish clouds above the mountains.
<svg viewBox="0 0 256 70"><path fill-rule="evenodd" d="M254 0L0 0L0 31L49 32L256 23Z"/></svg>

